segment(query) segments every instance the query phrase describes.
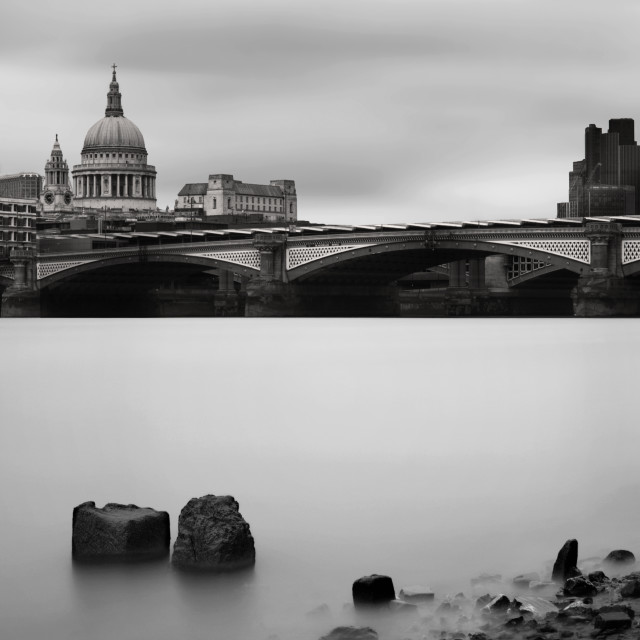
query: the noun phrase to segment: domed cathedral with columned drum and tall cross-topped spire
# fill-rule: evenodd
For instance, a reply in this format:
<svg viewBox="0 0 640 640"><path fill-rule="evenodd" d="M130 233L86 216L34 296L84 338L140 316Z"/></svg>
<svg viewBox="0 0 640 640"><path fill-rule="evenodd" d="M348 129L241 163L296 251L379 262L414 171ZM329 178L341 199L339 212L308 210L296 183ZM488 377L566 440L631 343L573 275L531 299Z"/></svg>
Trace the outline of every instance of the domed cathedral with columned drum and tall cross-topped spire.
<svg viewBox="0 0 640 640"><path fill-rule="evenodd" d="M122 212L156 209L156 169L147 164L140 129L124 116L116 65L105 116L87 132L73 171L76 209Z"/></svg>

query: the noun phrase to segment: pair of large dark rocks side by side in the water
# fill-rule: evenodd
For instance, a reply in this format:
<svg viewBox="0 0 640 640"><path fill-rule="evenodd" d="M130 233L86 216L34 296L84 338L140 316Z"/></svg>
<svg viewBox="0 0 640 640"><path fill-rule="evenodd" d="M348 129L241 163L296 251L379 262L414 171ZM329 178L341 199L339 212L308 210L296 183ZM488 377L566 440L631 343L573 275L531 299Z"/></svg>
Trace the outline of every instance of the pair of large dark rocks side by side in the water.
<svg viewBox="0 0 640 640"><path fill-rule="evenodd" d="M73 510L71 550L78 562L166 558L169 514L134 504L85 502ZM172 564L180 569L233 571L255 564L249 524L232 496L192 498L180 512Z"/></svg>

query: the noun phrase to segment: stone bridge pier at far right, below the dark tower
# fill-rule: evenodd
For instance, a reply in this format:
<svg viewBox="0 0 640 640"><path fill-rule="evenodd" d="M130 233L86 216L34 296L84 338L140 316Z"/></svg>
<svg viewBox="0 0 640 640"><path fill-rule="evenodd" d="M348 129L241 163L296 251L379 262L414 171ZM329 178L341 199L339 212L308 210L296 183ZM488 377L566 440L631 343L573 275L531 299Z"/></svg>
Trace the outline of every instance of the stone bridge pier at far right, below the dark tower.
<svg viewBox="0 0 640 640"><path fill-rule="evenodd" d="M640 287L621 273L621 225L588 223L585 235L591 241L591 268L580 276L571 292L574 315L581 318L640 315Z"/></svg>

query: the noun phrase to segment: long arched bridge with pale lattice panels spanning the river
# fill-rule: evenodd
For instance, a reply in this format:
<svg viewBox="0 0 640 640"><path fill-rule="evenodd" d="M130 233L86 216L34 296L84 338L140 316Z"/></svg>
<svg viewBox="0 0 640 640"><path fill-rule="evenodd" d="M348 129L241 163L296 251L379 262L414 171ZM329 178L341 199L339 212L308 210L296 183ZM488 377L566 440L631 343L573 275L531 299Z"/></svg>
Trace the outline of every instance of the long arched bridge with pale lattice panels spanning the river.
<svg viewBox="0 0 640 640"><path fill-rule="evenodd" d="M65 285L126 287L197 273L215 274L222 315L398 315L402 305L417 315L434 305L445 314L511 315L513 301L532 308L556 298L578 316L640 313L640 216L79 234L65 242L53 252L18 248L0 263L3 316L41 315L43 297ZM428 270L446 275L446 289L399 292L403 277Z"/></svg>

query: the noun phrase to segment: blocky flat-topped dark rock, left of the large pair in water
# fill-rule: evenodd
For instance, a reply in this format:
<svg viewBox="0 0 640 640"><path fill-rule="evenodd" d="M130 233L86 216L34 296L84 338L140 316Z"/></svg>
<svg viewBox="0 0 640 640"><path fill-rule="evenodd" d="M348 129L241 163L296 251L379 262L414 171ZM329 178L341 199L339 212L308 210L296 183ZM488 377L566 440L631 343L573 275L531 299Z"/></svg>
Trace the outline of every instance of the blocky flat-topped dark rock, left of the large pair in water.
<svg viewBox="0 0 640 640"><path fill-rule="evenodd" d="M155 560L169 554L169 514L135 504L85 502L73 510L71 553L82 562Z"/></svg>

